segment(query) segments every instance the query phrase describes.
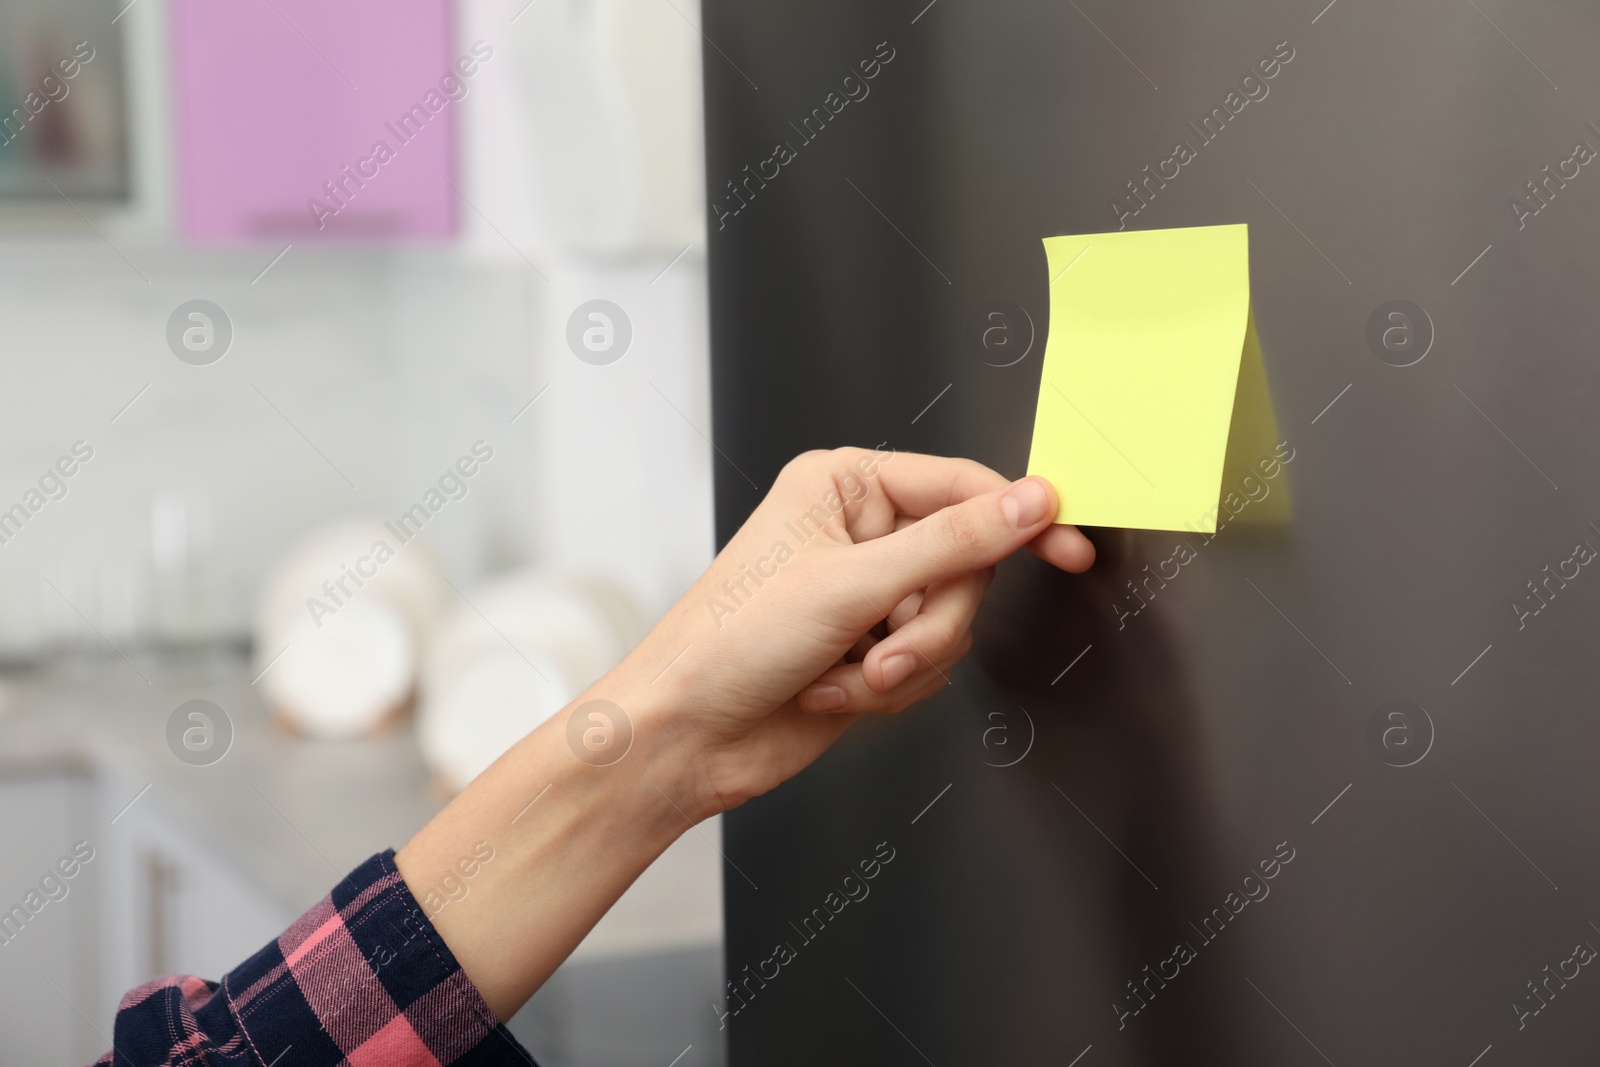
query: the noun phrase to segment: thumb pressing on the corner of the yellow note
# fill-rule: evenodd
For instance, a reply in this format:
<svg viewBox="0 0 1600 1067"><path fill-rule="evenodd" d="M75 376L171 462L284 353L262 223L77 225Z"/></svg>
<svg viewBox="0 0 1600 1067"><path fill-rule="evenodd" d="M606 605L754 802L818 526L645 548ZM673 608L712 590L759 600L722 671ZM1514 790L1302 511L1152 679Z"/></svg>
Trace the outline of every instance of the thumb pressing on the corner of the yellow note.
<svg viewBox="0 0 1600 1067"><path fill-rule="evenodd" d="M896 605L936 581L994 566L1050 528L1058 507L1043 478L1013 482L856 545L853 577L872 603Z"/></svg>

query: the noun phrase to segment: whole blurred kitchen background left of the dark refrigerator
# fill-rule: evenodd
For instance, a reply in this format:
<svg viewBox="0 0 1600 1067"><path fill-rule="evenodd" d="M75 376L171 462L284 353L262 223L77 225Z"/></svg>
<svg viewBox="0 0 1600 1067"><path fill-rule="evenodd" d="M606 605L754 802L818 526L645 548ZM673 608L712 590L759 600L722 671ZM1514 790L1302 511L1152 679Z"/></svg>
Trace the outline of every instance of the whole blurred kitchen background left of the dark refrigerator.
<svg viewBox="0 0 1600 1067"><path fill-rule="evenodd" d="M0 1064L221 977L709 561L698 18L0 5ZM717 840L541 1062L723 1062Z"/></svg>

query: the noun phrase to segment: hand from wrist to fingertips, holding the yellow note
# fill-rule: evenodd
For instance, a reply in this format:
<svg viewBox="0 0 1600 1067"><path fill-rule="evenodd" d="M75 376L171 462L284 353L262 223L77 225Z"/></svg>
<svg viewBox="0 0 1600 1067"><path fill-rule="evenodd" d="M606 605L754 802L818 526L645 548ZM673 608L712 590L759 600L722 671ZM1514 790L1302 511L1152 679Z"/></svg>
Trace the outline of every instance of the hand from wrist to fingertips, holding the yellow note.
<svg viewBox="0 0 1600 1067"><path fill-rule="evenodd" d="M1053 525L1056 510L1043 478L1011 483L968 459L805 453L595 694L629 712L650 689L638 704L661 713L638 726L683 739L698 771L677 803L696 817L733 808L858 715L947 685L995 563L1027 545L1086 569L1094 547Z"/></svg>

